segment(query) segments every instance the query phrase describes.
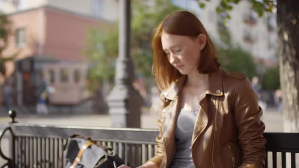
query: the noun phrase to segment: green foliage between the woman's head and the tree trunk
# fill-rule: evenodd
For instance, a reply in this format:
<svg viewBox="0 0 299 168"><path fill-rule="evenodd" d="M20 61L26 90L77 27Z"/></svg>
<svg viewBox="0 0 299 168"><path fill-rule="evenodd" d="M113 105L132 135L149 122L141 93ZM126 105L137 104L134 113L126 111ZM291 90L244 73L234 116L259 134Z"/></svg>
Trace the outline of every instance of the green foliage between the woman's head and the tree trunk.
<svg viewBox="0 0 299 168"><path fill-rule="evenodd" d="M197 0L200 8L205 8L206 3L209 0ZM259 17L263 16L265 12L273 12L276 9L276 0L248 0L252 4L252 10L255 11ZM217 46L219 60L222 63L224 69L239 71L247 74L249 78L256 75L256 65L252 60L250 53L244 51L240 47L233 47L231 45L231 36L228 28L226 27L227 19L231 19L229 14L233 10L234 5L240 3L241 0L221 0L215 11L223 21L223 30L220 32L220 39L228 47L223 48ZM247 62L247 63L246 63ZM263 65L262 65L263 66ZM259 74L263 77L264 89L277 89L279 87L279 73L277 68L268 68L264 74ZM277 76L278 75L278 76ZM266 81L267 80L267 81Z"/></svg>

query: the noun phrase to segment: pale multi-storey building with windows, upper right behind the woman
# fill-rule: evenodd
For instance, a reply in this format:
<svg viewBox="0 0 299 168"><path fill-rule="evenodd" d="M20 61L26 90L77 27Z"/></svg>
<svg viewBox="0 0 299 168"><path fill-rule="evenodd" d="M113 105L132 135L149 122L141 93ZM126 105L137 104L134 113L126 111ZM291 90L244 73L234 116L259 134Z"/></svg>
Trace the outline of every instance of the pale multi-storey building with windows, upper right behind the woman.
<svg viewBox="0 0 299 168"><path fill-rule="evenodd" d="M172 0L172 2L197 14L212 39L220 43L219 30L223 24L216 12L219 0L205 2L204 9L199 8L196 0ZM265 13L263 17L258 17L251 7L252 4L249 1L240 1L229 12L232 19L228 20L227 26L231 32L233 44L250 52L253 57L277 62L276 14Z"/></svg>

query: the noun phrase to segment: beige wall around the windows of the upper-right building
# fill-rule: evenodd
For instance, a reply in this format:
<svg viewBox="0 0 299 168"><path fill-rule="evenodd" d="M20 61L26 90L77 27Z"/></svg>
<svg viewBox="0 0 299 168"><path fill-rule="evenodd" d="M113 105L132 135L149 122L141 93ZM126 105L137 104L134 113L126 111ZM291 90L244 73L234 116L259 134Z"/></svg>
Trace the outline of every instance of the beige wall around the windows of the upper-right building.
<svg viewBox="0 0 299 168"><path fill-rule="evenodd" d="M217 18L218 14L215 9L220 3L220 0L205 2L206 7L204 9L198 8L198 3L195 0L186 0L181 2L182 7L193 10L194 13L198 14L199 19L205 26L209 35L213 40L219 42L219 33L217 29ZM278 48L277 41L277 30L272 32L268 31L267 19L270 14L265 14L264 17L258 18L255 24L244 23L244 16L251 12L252 4L249 1L240 1L238 5L234 6L234 9L230 12L232 17L229 20L228 28L231 31L232 39L235 45L239 45L246 51L250 52L254 57L263 59L275 59L275 55ZM249 31L255 38L253 43L244 41L244 34ZM272 48L268 48L269 43L273 43Z"/></svg>

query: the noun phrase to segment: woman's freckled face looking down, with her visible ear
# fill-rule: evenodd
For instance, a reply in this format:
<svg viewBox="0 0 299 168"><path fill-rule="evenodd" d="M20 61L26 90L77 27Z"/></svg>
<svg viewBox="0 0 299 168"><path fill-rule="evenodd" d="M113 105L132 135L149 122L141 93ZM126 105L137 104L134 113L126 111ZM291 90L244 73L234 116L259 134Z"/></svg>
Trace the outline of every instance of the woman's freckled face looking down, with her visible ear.
<svg viewBox="0 0 299 168"><path fill-rule="evenodd" d="M198 73L201 50L206 44L204 34L191 38L162 32L161 42L168 61L181 74Z"/></svg>

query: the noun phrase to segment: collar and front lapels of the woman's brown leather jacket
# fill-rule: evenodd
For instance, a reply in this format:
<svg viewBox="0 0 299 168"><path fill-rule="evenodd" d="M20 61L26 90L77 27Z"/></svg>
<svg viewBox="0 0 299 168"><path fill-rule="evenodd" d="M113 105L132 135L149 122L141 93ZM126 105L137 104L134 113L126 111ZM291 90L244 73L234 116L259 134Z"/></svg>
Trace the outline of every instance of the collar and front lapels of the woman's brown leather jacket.
<svg viewBox="0 0 299 168"><path fill-rule="evenodd" d="M208 97L207 95L213 96L222 96L222 70L217 69L215 72L209 74L208 79L208 87L206 91L205 97L199 102L200 103L200 111L197 116L195 122L194 133L192 137L192 145L196 141L196 139L200 136L200 133L206 128L208 123ZM177 122L178 108L180 98L178 97L180 91L182 90L183 84L186 80L186 76L183 75L181 78L177 80L177 82L173 82L172 85L168 89L163 92L163 96L165 101L170 101L169 105L167 105L163 109L163 132L164 132L164 143L166 147L167 158L169 158L169 154L171 152L171 148L174 145L174 136L175 136L175 127Z"/></svg>

